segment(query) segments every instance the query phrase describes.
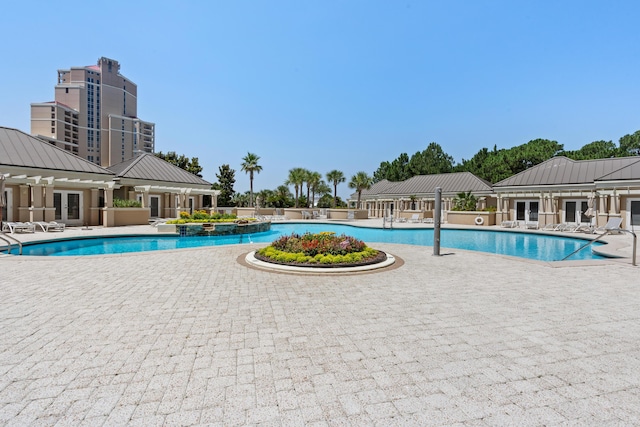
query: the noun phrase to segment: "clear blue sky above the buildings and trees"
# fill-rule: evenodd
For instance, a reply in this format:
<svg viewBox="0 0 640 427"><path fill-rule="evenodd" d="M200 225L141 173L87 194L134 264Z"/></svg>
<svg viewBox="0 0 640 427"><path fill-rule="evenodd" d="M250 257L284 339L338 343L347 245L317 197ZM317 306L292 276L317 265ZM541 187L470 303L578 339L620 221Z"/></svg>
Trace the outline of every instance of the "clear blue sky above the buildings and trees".
<svg viewBox="0 0 640 427"><path fill-rule="evenodd" d="M156 150L203 176L247 152L347 180L435 141L456 162L535 138L577 149L640 129L640 2L8 2L0 125L30 131L58 69L116 59ZM351 191L339 187L344 198Z"/></svg>

